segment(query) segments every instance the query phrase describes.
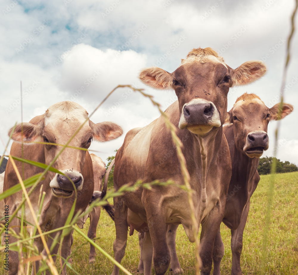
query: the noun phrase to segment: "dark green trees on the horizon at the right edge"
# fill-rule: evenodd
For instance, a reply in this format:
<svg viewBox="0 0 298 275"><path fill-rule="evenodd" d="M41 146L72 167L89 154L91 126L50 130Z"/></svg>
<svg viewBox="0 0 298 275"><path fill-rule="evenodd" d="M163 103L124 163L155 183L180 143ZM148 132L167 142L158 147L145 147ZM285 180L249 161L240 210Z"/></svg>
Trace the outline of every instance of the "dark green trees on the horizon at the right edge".
<svg viewBox="0 0 298 275"><path fill-rule="evenodd" d="M270 174L273 159L273 157L260 158L258 166L258 172L260 175ZM280 161L280 159L276 159L276 161L276 173L288 173L298 171L298 167L295 164L290 163L289 161L282 162Z"/></svg>

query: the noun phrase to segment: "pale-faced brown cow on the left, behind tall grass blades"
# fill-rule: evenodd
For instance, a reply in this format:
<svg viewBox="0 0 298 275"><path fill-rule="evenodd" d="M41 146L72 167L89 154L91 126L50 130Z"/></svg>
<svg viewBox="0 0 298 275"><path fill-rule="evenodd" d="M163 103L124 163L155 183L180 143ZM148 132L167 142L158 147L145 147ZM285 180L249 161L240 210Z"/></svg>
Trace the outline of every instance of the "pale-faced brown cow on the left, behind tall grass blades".
<svg viewBox="0 0 298 275"><path fill-rule="evenodd" d="M43 145L43 144L24 144L20 141L33 142L44 141L56 144L66 144L69 138L78 130L80 125L88 119L87 111L75 102L64 101L59 102L48 108L45 114L36 116L29 123L23 123L16 126L12 138L18 142L13 142L10 154L32 161L49 164L55 156L59 153L61 146L58 145ZM11 133L10 130L9 134ZM94 124L91 120L87 121L83 127L78 131L75 138L69 143L72 147L89 148L92 138L97 141L107 141L117 138L122 134L122 129L112 122L101 122ZM22 152L23 146L23 152ZM29 178L32 175L43 172L43 169L31 166L29 164L22 164L16 161L18 170L23 177ZM23 168L22 168L23 165ZM42 191L46 192L44 205L41 211L39 224L41 229L52 230L64 225L69 211L75 199L75 192L77 189L77 203L75 212L83 211L88 205L94 189L94 177L92 161L89 152L85 150L78 150L67 147L54 162L52 167L61 171L64 175L48 171L45 175L44 181L41 181L37 188L30 195L30 201L36 212L39 208L38 196L42 186ZM10 160L7 162L5 177L4 177L4 191L18 183L18 178L13 169ZM9 214L11 215L22 200L22 192L6 198L6 205L9 205ZM34 224L32 215L26 207L25 220ZM17 233L20 226L21 210L11 223L10 228L13 228ZM28 228L28 230L30 230ZM31 229L32 230L32 229ZM61 232L58 232L60 234ZM47 246L51 248L53 239L57 232L50 234ZM71 245L71 234L68 234L63 239L61 257L66 258L69 253ZM10 243L13 243L15 238L10 237ZM46 254L44 246L40 238L35 239L35 246L41 254ZM59 245L56 245L51 251L52 255L57 254ZM9 252L9 274L17 274L18 272L18 252ZM55 256L53 256L55 260ZM35 262L32 268L37 271L39 268L39 261ZM61 263L62 265L62 263ZM63 274L66 274L66 267L63 269Z"/></svg>

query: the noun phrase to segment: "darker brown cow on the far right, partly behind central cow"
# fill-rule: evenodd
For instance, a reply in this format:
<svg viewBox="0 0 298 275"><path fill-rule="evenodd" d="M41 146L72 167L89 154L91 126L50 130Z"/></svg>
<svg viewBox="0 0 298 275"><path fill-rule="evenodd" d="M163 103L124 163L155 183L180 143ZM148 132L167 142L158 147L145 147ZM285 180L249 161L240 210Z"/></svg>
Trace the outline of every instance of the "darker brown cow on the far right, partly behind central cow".
<svg viewBox="0 0 298 275"><path fill-rule="evenodd" d="M257 171L259 158L269 146L267 126L270 120L278 119L279 103L268 108L255 94L238 97L228 112L224 134L229 144L232 159L232 176L229 184L223 223L231 229L232 271L242 274L240 255L243 230L246 224L250 198L257 188L260 176ZM291 104L283 103L281 119L293 111ZM224 244L220 230L216 235L213 250L214 272L220 274Z"/></svg>

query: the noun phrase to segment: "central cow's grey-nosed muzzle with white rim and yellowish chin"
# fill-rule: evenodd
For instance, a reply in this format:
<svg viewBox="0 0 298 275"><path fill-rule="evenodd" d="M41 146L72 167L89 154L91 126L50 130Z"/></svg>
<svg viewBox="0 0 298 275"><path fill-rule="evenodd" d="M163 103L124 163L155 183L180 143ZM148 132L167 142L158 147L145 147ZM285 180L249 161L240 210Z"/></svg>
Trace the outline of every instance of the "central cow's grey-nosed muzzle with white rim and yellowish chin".
<svg viewBox="0 0 298 275"><path fill-rule="evenodd" d="M193 99L185 103L179 121L179 129L187 128L192 133L203 135L213 127L220 127L221 121L214 103L203 99Z"/></svg>

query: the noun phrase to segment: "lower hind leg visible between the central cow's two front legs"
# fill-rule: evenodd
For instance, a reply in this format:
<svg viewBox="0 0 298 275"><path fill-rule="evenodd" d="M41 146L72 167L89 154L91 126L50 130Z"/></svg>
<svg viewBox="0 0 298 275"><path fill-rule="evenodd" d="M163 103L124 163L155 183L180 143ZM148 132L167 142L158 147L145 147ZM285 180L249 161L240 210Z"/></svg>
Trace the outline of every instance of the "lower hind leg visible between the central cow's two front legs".
<svg viewBox="0 0 298 275"><path fill-rule="evenodd" d="M177 233L178 224L169 224L167 226L167 244L170 249L171 255L171 268L170 271L173 271L173 275L183 273L183 269L180 266L177 252L176 252L176 233Z"/></svg>

